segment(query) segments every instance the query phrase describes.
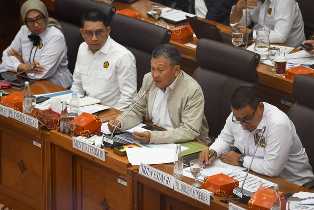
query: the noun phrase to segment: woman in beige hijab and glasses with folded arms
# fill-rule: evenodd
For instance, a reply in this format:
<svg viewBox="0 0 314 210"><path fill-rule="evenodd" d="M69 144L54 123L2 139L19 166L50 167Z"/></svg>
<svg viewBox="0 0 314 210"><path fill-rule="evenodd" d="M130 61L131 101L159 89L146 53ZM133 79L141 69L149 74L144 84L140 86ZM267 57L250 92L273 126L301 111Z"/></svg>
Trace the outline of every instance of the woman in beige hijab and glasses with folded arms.
<svg viewBox="0 0 314 210"><path fill-rule="evenodd" d="M21 8L25 23L11 45L3 51L2 65L9 71L27 71L31 79L45 79L67 88L72 85L68 69L67 46L61 26L48 17L45 4L40 0L27 0Z"/></svg>

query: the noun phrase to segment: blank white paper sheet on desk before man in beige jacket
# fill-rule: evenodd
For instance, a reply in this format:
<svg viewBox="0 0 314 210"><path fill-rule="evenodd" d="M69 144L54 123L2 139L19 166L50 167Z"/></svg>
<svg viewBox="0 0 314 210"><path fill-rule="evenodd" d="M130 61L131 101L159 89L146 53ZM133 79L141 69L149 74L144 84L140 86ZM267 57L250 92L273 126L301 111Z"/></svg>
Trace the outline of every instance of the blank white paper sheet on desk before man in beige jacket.
<svg viewBox="0 0 314 210"><path fill-rule="evenodd" d="M176 150L160 148L127 148L129 162L135 166L145 164L171 163L175 159Z"/></svg>

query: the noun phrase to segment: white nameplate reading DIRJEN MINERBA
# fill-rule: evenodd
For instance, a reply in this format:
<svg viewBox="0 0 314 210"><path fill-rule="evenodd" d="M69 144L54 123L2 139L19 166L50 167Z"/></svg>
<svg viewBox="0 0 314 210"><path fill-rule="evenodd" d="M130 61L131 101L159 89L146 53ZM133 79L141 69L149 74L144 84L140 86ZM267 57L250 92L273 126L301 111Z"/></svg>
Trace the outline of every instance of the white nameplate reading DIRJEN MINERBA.
<svg viewBox="0 0 314 210"><path fill-rule="evenodd" d="M199 202L210 206L210 193L200 190L196 187L192 187L183 181L175 180L174 188L175 191L182 193L188 197L191 197Z"/></svg>

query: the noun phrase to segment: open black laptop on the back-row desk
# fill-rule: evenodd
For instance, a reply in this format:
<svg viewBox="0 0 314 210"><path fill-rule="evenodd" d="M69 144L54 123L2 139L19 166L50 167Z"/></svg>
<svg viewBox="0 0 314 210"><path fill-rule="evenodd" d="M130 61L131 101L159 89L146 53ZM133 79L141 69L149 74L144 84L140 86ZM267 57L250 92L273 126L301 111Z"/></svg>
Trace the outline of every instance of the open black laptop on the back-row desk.
<svg viewBox="0 0 314 210"><path fill-rule="evenodd" d="M207 38L214 41L233 45L232 36L227 33L220 33L215 25L188 16L186 16L186 19L198 39ZM239 47L245 46L245 42L246 39L243 39L243 43ZM247 44L251 45L252 42L248 41Z"/></svg>

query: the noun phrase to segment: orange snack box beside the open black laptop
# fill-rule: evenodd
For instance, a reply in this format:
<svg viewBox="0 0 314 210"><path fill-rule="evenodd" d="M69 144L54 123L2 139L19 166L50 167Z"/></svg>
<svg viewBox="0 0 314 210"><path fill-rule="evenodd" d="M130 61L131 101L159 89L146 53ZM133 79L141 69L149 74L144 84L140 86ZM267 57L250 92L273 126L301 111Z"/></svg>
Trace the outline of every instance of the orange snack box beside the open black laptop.
<svg viewBox="0 0 314 210"><path fill-rule="evenodd" d="M193 40L193 30L190 25L178 26L171 29L170 40L184 43Z"/></svg>

